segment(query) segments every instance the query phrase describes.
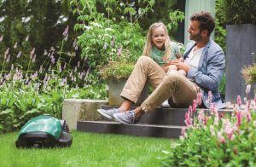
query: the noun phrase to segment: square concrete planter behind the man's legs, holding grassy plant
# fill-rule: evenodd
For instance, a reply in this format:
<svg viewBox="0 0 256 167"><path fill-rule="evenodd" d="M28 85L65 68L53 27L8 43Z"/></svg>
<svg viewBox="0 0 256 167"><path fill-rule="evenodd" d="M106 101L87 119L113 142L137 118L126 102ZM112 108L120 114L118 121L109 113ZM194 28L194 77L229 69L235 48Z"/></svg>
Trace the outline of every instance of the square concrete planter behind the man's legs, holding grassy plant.
<svg viewBox="0 0 256 167"><path fill-rule="evenodd" d="M121 91L125 86L127 79L122 79L120 81L110 80L108 82L108 103L110 106L120 106L124 101L121 97ZM139 106L148 97L148 84L143 89L143 92L134 106Z"/></svg>

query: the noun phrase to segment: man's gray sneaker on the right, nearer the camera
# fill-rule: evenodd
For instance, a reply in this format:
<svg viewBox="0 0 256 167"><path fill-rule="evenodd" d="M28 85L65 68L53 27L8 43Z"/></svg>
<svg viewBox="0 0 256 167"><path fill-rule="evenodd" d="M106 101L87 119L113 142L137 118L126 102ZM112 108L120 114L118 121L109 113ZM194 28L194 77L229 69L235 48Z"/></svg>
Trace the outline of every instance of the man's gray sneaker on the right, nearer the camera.
<svg viewBox="0 0 256 167"><path fill-rule="evenodd" d="M136 124L139 121L134 111L114 113L113 118L121 124Z"/></svg>

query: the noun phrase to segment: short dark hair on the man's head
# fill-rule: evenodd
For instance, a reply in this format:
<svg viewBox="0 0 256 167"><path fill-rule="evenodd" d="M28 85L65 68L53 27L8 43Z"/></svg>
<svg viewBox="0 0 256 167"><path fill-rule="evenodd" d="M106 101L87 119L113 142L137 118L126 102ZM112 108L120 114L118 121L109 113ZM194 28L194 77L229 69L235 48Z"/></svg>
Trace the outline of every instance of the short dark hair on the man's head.
<svg viewBox="0 0 256 167"><path fill-rule="evenodd" d="M190 20L197 20L200 22L200 31L207 30L208 31L208 36L211 35L214 27L215 27L215 22L212 18L212 15L208 12L200 12L197 14L193 14L190 17Z"/></svg>

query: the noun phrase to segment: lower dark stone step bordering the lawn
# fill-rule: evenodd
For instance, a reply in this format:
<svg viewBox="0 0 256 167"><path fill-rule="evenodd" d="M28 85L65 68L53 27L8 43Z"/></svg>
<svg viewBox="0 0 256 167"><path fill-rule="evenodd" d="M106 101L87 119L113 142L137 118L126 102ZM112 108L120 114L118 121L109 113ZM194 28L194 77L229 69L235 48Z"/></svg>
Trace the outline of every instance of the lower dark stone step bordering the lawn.
<svg viewBox="0 0 256 167"><path fill-rule="evenodd" d="M160 124L119 124L107 121L79 121L77 130L103 134L178 138L182 126Z"/></svg>

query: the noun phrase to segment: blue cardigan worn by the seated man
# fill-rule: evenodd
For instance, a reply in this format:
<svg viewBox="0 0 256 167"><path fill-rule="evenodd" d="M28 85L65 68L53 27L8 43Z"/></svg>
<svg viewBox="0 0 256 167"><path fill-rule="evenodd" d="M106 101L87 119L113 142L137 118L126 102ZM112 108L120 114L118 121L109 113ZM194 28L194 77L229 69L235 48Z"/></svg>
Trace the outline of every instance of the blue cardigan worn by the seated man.
<svg viewBox="0 0 256 167"><path fill-rule="evenodd" d="M195 46L195 42L188 43L183 55L185 60L191 49ZM222 79L222 73L225 67L225 56L220 46L209 39L207 45L202 51L199 60L198 69L191 67L189 69L187 78L194 81L201 88L202 101L204 105L209 108L208 91L212 90L212 102L218 108L224 108L225 104L221 101L218 92L218 84Z"/></svg>

